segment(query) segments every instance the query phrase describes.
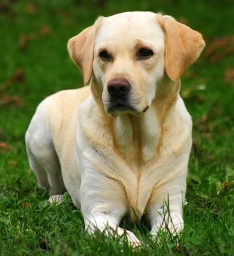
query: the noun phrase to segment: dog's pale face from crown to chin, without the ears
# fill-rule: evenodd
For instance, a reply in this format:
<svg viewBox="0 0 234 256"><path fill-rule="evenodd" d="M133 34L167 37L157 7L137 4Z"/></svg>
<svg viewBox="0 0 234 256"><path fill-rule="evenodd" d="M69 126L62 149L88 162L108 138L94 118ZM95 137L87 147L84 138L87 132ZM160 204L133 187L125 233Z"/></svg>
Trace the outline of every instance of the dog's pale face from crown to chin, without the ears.
<svg viewBox="0 0 234 256"><path fill-rule="evenodd" d="M164 73L164 34L155 14L103 18L95 39L93 71L106 112L145 112Z"/></svg>

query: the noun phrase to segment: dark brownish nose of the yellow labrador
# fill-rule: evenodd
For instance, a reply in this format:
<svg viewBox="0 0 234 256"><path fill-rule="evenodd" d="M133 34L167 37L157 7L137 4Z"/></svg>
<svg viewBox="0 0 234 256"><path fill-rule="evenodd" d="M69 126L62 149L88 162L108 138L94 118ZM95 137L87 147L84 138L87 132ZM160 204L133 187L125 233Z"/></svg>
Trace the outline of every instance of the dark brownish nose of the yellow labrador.
<svg viewBox="0 0 234 256"><path fill-rule="evenodd" d="M111 79L107 85L108 93L112 97L123 97L130 89L130 83L125 78Z"/></svg>

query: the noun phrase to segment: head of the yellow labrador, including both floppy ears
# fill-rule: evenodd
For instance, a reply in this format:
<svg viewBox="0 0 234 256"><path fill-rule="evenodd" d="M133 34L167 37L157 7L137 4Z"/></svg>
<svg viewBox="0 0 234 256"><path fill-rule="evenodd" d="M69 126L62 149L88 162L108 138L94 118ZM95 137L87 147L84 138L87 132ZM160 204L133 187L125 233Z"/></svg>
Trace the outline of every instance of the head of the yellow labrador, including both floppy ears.
<svg viewBox="0 0 234 256"><path fill-rule="evenodd" d="M162 78L177 82L204 46L197 31L150 12L99 17L68 42L85 84L92 81L96 100L112 115L146 112Z"/></svg>

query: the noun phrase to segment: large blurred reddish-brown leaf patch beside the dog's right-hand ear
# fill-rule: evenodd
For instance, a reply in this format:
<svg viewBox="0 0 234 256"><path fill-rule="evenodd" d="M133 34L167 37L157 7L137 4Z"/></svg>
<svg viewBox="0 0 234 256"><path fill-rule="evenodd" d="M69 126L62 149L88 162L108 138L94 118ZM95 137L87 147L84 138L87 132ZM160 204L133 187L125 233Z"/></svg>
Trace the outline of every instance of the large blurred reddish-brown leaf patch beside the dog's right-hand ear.
<svg viewBox="0 0 234 256"><path fill-rule="evenodd" d="M207 45L204 56L210 62L218 62L229 54L234 53L234 35L216 38Z"/></svg>

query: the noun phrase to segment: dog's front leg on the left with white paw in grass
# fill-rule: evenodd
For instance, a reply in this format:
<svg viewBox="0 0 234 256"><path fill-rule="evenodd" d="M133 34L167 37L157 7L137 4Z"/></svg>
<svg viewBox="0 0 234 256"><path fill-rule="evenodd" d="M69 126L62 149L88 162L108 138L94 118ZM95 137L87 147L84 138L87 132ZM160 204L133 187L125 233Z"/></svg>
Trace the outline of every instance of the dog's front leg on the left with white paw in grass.
<svg viewBox="0 0 234 256"><path fill-rule="evenodd" d="M86 168L81 182L81 210L89 234L99 230L106 235L118 235L121 239L126 235L129 245L140 245L131 231L119 227L122 217L127 213L127 206L123 188L118 181Z"/></svg>

